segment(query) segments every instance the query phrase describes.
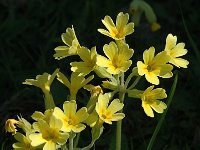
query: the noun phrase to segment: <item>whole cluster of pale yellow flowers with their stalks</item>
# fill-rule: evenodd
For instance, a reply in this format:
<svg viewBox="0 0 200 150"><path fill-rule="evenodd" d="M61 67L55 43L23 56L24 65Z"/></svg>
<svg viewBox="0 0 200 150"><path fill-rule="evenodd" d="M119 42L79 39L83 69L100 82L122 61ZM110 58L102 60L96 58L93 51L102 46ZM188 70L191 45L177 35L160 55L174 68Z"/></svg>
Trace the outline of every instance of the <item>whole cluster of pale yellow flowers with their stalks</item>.
<svg viewBox="0 0 200 150"><path fill-rule="evenodd" d="M66 76L56 69L53 74L43 73L36 76L36 79L26 79L23 82L42 90L46 111L35 111L32 124L22 117L18 117L18 120L7 120L6 130L17 140L13 144L14 149L66 149L65 143L69 143L69 149L72 150L73 147L77 147L73 138L87 126L91 128L92 141L85 149L91 148L100 137L104 123L111 125L113 121L121 122L125 117L125 94L140 99L142 108L149 117L154 117L153 110L157 113L164 112L167 105L161 99L166 98L167 94L165 89L155 88L155 85L160 84L161 78L173 76L173 66L187 68L189 62L180 58L187 50L184 43L177 44L177 37L169 34L163 51L156 53L155 48L150 47L143 52L142 61L132 64L134 50L126 43L125 37L134 32L134 23L128 23L128 20L129 15L122 12L117 15L115 24L110 16L105 16L102 20L107 30L98 31L113 39L103 46L105 56L98 54L101 50L97 50L95 46L91 49L81 46L73 26L67 28L66 33L61 35L65 46L56 47L54 57L60 60L78 55L80 61L70 63L72 73L69 78L69 75ZM131 73L125 76L130 68ZM96 80L97 76L94 76L94 73L103 79L102 85L89 84L94 78ZM135 87L143 76L152 85L138 90ZM63 100L63 109L56 106L51 93L51 85L56 79L69 90L69 95ZM85 100L86 107L77 110L77 94L80 89L90 91L91 96ZM104 89L111 92L106 93ZM21 128L23 133L18 132L17 128Z"/></svg>

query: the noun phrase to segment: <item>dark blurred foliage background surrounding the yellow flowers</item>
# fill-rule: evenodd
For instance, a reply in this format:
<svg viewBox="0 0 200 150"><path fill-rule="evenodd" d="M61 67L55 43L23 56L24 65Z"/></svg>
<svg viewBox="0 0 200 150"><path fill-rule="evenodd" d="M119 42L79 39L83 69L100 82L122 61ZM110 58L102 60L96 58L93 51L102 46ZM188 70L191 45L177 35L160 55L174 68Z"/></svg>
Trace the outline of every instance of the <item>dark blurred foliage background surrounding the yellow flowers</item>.
<svg viewBox="0 0 200 150"><path fill-rule="evenodd" d="M185 42L188 49L189 69L181 69L174 100L166 116L164 125L154 145L155 150L198 150L200 149L200 70L199 60L189 41L181 11L177 1L146 0L154 9L161 29L150 30L145 19L128 37L130 47L135 50L133 61L140 59L142 52L150 46L161 51L168 33L177 35L178 41ZM4 123L8 118L21 114L30 119L35 110L44 110L42 93L36 88L21 83L27 78L35 78L43 72L52 73L61 68L69 74L72 59L56 61L54 48L61 44L60 35L67 27L74 25L81 45L91 48L97 45L102 53L104 43L109 38L99 34L103 27L101 19L105 15L112 18L120 12L128 12L131 0L0 0L0 148L10 150L13 143L11 135L5 133ZM200 36L200 1L180 1L185 25L198 48ZM139 55L140 54L140 55ZM140 57L139 57L140 56ZM177 69L178 70L178 69ZM173 79L163 81L169 92ZM144 84L147 84L144 82ZM53 94L56 104L61 106L66 97L62 85L54 83ZM143 85L140 85L141 88ZM80 91L79 102L85 105L86 91ZM141 102L127 99L123 120L122 149L146 149L160 116L148 118L140 106ZM89 130L89 129L88 129ZM105 131L97 141L95 149L114 149L115 138L111 133L115 127L105 126ZM90 131L84 131L80 147L90 141Z"/></svg>

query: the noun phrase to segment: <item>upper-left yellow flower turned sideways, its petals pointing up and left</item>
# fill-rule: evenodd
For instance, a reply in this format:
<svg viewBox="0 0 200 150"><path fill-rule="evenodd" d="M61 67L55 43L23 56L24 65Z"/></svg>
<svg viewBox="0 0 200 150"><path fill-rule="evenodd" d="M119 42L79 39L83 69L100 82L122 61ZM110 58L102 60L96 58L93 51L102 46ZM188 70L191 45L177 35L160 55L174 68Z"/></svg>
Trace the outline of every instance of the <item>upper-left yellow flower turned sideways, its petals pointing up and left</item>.
<svg viewBox="0 0 200 150"><path fill-rule="evenodd" d="M67 28L66 33L63 33L61 38L66 46L58 46L55 48L55 59L60 60L71 55L77 55L81 46L78 42L73 26L72 28Z"/></svg>

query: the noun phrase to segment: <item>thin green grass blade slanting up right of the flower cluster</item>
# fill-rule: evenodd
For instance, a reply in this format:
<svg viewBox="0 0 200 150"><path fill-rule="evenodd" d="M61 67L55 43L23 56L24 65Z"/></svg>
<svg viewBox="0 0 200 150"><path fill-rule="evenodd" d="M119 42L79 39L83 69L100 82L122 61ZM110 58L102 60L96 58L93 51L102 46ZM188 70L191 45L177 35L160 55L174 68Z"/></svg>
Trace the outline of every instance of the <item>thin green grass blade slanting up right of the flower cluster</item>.
<svg viewBox="0 0 200 150"><path fill-rule="evenodd" d="M161 116L161 118L160 118L160 120L159 120L159 122L158 122L158 124L157 124L157 126L156 126L156 129L155 129L155 131L154 131L154 133L153 133L153 136L151 137L151 140L150 140L150 142L149 142L149 145L148 145L148 147L147 147L147 150L151 150L151 149L152 149L153 144L154 144L154 142L155 142L155 139L156 139L156 137L157 137L157 135L158 135L158 132L159 132L160 128L162 127L163 121L164 121L164 119L165 119L165 116L166 116L166 114L167 114L167 111L168 111L168 109L169 109L169 106L170 106L170 104L171 104L171 102L172 102L172 99L173 99L173 96L174 96L174 92L175 92L175 90L176 90L177 81L178 81L178 73L176 74L176 76L175 76L175 78L174 78L173 85L172 85L172 87L171 87L169 96L168 96L168 98L167 98L167 109L166 109L166 110L164 111L164 113L162 114L162 116Z"/></svg>

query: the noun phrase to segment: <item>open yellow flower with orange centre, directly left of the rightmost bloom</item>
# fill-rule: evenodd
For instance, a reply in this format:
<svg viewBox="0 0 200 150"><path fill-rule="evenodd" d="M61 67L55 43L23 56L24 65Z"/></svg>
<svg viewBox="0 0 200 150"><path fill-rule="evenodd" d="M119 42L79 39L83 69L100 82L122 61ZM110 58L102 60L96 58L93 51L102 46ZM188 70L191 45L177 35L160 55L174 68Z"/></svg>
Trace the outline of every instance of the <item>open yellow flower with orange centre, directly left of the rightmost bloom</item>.
<svg viewBox="0 0 200 150"><path fill-rule="evenodd" d="M138 74L140 76L145 75L145 78L148 82L152 84L159 84L158 77L170 78L172 77L171 70L173 66L166 64L169 62L170 57L166 54L165 51L158 53L155 57L154 47L150 47L148 50L145 50L143 53L143 60L137 62Z"/></svg>

